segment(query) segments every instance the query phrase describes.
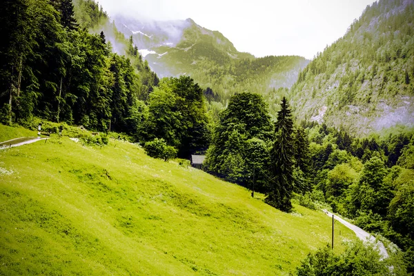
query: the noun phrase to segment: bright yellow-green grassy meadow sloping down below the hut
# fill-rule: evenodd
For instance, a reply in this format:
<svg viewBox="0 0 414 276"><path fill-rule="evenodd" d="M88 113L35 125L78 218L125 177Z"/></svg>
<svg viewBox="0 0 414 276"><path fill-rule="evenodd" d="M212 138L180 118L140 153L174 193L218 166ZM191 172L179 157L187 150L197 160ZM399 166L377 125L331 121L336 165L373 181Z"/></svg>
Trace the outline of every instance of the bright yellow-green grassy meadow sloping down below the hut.
<svg viewBox="0 0 414 276"><path fill-rule="evenodd" d="M113 139L0 150L0 208L0 275L288 275L331 240L322 212L281 213ZM355 236L335 227L343 250Z"/></svg>

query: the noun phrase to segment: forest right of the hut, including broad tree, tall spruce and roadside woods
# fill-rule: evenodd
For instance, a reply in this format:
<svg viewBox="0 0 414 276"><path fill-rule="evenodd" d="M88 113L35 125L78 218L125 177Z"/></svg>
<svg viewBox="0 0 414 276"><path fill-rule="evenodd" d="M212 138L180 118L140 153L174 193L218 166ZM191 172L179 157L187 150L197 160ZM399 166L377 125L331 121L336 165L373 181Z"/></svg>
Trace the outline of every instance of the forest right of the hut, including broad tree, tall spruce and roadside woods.
<svg viewBox="0 0 414 276"><path fill-rule="evenodd" d="M285 98L279 109L273 124L261 96L233 96L213 131L206 170L265 193L280 210L290 211L292 198L332 208L390 239L414 264L414 132L362 139L295 121Z"/></svg>

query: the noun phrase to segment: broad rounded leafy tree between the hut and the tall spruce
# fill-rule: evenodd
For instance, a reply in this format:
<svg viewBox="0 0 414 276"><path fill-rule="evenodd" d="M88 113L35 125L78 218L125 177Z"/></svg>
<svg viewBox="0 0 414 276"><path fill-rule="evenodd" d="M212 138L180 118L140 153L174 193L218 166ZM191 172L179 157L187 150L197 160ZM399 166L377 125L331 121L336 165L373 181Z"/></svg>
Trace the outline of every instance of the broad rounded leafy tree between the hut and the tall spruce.
<svg viewBox="0 0 414 276"><path fill-rule="evenodd" d="M207 151L206 169L248 188L253 188L254 175L255 190L263 191L272 132L263 97L250 93L234 95L220 114Z"/></svg>

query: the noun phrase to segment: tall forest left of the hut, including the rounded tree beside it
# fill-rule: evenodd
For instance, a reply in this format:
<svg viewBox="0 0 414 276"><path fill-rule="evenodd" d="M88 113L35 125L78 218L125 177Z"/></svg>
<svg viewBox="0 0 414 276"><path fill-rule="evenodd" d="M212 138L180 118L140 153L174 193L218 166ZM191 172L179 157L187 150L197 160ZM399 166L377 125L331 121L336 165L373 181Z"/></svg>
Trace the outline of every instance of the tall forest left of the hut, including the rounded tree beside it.
<svg viewBox="0 0 414 276"><path fill-rule="evenodd" d="M126 132L136 141L158 138L182 157L206 149L203 90L190 77L160 82L132 37L117 37L125 48L118 55L103 32L90 34L86 27L108 21L95 1L78 0L76 9L70 0L6 1L3 7L1 123L30 126L40 117Z"/></svg>

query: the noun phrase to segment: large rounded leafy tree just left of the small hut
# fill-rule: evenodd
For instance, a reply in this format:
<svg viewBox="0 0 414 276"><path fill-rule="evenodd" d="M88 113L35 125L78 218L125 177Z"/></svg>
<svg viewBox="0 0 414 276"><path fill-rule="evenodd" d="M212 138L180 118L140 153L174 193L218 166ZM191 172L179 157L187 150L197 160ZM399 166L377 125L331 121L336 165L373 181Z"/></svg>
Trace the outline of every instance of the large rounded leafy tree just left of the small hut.
<svg viewBox="0 0 414 276"><path fill-rule="evenodd" d="M190 77L162 79L159 88L150 94L147 128L142 135L155 137L188 157L197 150L206 150L210 142L208 117L201 88Z"/></svg>

